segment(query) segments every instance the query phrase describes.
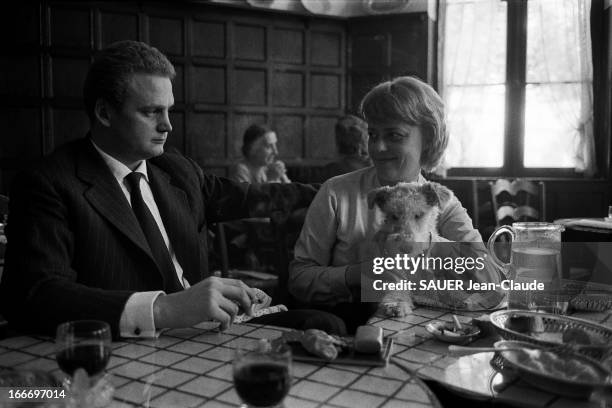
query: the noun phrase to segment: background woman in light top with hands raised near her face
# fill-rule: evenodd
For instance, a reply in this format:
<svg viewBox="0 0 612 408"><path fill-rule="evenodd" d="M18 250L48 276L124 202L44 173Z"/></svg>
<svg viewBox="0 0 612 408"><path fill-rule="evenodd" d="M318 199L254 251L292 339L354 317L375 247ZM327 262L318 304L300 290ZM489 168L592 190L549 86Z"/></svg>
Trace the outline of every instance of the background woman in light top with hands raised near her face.
<svg viewBox="0 0 612 408"><path fill-rule="evenodd" d="M285 163L276 160L276 133L266 125L253 124L244 132L242 155L230 169L230 179L246 183L290 183Z"/></svg>

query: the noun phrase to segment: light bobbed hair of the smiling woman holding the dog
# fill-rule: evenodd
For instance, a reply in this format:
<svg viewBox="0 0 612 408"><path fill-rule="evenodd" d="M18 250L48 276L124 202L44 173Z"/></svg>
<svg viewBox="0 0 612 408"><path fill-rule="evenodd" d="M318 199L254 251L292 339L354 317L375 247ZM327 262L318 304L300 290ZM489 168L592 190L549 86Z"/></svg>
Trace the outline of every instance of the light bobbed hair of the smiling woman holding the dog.
<svg viewBox="0 0 612 408"><path fill-rule="evenodd" d="M376 85L363 97L361 114L367 122L404 122L423 133L421 167L433 170L448 145L444 102L428 84L415 77L398 77Z"/></svg>

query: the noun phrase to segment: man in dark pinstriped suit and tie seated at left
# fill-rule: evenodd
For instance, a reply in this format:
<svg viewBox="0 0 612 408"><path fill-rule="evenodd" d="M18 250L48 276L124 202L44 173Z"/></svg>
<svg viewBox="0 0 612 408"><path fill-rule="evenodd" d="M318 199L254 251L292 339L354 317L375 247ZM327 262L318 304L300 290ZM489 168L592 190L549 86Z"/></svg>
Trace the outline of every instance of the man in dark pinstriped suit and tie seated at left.
<svg viewBox="0 0 612 408"><path fill-rule="evenodd" d="M314 190L237 184L164 152L174 75L146 44L103 50L84 87L88 137L16 178L0 284L11 325L50 332L63 321L100 319L115 336L155 336L205 320L224 329L250 310L253 289L209 276L207 224L270 210L270 197L286 189L292 204L307 205ZM260 323L344 330L331 315L289 313Z"/></svg>

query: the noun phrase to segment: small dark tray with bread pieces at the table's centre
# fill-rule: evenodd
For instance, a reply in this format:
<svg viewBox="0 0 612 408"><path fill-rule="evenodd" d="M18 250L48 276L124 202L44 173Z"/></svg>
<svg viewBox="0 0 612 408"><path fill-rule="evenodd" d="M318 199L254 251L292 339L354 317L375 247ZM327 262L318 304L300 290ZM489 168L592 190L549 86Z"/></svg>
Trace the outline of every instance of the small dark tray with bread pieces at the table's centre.
<svg viewBox="0 0 612 408"><path fill-rule="evenodd" d="M340 337L322 330L293 330L275 341L291 347L295 361L334 364L385 366L391 355L393 339L383 339L382 329L360 326L355 336Z"/></svg>

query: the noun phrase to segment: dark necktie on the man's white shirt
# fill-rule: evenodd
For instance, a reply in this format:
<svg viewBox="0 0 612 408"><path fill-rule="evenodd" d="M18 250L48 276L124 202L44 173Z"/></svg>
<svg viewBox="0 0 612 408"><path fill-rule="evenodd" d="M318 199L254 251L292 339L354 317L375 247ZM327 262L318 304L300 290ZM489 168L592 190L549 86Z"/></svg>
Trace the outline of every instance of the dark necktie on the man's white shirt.
<svg viewBox="0 0 612 408"><path fill-rule="evenodd" d="M136 218L138 218L140 228L142 228L142 232L147 238L153 258L155 258L155 262L164 277L164 290L167 293L178 292L183 287L179 283L168 247L159 231L155 218L153 218L153 214L151 214L151 211L149 211L149 208L142 199L142 193L140 192L140 178L142 176L142 173L133 171L125 177L131 189L132 210L136 214Z"/></svg>

